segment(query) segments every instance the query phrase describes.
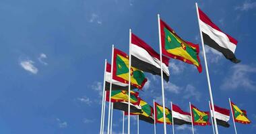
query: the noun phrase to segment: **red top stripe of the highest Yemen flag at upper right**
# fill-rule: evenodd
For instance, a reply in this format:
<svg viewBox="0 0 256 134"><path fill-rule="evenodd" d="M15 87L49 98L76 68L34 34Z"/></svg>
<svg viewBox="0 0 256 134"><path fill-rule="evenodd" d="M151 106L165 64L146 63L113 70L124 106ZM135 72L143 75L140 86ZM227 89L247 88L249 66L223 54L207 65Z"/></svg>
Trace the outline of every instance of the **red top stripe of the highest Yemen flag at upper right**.
<svg viewBox="0 0 256 134"><path fill-rule="evenodd" d="M210 25L212 28L224 33L217 25L215 25L212 20L205 14L203 13L203 11L201 11L201 9L198 7L198 11L199 11L199 18L201 19L201 21L203 21L204 23L207 23L207 25ZM237 44L237 40L232 38L231 36L229 36L228 34L226 34L226 36L228 36L228 39L230 42L232 42L233 44Z"/></svg>

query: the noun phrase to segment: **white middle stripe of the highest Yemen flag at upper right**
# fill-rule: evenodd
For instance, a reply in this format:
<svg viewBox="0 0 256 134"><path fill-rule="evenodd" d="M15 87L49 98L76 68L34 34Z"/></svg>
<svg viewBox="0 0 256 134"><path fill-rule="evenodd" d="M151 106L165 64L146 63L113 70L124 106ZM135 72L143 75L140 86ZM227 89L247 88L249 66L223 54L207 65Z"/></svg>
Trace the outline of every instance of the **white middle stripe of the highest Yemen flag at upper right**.
<svg viewBox="0 0 256 134"><path fill-rule="evenodd" d="M213 27L207 25L207 23L204 23L201 20L199 20L199 24L201 27L201 31L203 31L203 33L210 36L210 38L212 38L212 40L214 40L222 48L227 48L228 50L231 50L234 53L234 51L236 50L236 45L230 42L226 34L222 33L221 31L218 31L217 29L214 29Z"/></svg>

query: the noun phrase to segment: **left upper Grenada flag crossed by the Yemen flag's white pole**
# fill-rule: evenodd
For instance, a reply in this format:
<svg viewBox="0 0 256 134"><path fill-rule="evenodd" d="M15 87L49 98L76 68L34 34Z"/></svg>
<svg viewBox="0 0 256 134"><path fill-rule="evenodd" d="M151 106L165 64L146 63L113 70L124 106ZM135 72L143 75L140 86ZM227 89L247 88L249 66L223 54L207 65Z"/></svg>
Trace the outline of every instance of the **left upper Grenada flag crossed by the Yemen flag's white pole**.
<svg viewBox="0 0 256 134"><path fill-rule="evenodd" d="M114 50L113 61L113 79L119 82L129 83L129 57L117 48ZM143 72L137 68L131 67L131 85L136 88L143 88L147 78Z"/></svg>

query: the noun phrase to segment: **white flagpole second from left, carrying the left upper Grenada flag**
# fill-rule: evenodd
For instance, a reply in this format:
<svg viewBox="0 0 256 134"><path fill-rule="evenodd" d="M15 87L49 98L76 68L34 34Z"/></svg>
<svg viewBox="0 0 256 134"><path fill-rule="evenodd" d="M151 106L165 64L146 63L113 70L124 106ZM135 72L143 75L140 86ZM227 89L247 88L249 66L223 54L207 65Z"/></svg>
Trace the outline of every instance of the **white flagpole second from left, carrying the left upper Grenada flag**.
<svg viewBox="0 0 256 134"><path fill-rule="evenodd" d="M109 101L108 101L108 134L110 127L110 109L111 109L111 92L112 92L112 79L113 79L113 61L114 61L114 45L112 45L112 56L111 56L111 75L110 75L110 88L109 88Z"/></svg>

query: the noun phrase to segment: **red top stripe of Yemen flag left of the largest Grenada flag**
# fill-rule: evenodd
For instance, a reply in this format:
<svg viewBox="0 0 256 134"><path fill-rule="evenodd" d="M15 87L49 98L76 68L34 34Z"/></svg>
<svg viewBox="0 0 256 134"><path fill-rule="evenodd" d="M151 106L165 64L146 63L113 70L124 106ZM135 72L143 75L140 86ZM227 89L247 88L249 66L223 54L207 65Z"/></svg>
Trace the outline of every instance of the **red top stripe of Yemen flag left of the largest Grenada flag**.
<svg viewBox="0 0 256 134"><path fill-rule="evenodd" d="M141 40L140 38L138 38L137 36L135 36L135 34L131 34L131 45L136 45L139 46L140 48L143 48L144 50L146 50L151 56L157 58L158 60L160 60L160 54L158 54L155 50L153 50L153 48L151 48L148 44L146 44L146 42L144 42L143 40ZM169 58L167 58L166 56L162 56L162 62L164 64L166 64L166 66L168 66L169 64Z"/></svg>

